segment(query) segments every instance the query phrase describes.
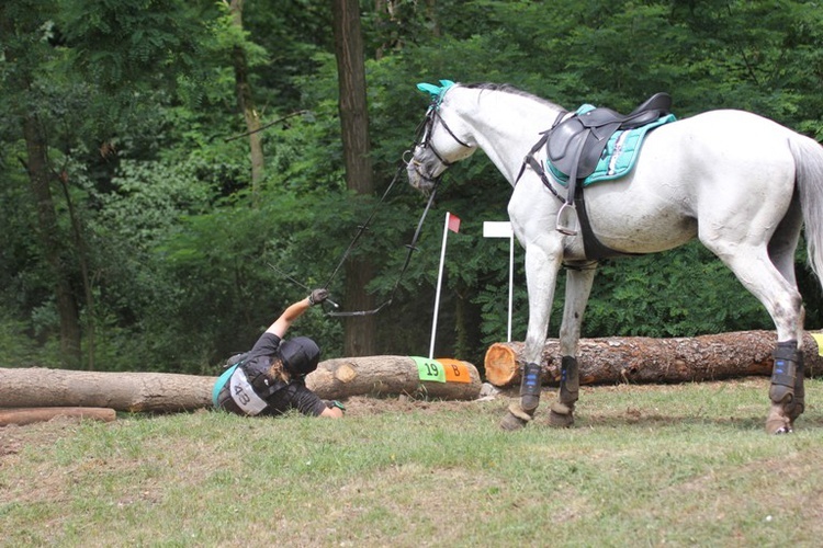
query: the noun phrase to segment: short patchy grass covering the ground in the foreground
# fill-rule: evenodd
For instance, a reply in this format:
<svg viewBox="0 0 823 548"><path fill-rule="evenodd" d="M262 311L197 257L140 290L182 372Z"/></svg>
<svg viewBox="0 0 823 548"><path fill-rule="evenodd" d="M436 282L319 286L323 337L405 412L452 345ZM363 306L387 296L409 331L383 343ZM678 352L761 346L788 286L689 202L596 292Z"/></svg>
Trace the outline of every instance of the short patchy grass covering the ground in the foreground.
<svg viewBox="0 0 823 548"><path fill-rule="evenodd" d="M585 388L570 430L546 395L516 433L507 398L0 429L0 546L820 546L823 380L790 436L767 383Z"/></svg>

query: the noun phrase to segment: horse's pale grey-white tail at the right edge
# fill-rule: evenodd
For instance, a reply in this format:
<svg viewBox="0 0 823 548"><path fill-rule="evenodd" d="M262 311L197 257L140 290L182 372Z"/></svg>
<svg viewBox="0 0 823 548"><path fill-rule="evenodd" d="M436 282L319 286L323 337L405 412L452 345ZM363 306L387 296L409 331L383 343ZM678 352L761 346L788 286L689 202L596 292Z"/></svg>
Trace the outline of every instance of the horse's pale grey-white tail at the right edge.
<svg viewBox="0 0 823 548"><path fill-rule="evenodd" d="M823 147L809 137L799 137L789 140L789 148L794 156L809 265L823 282Z"/></svg>

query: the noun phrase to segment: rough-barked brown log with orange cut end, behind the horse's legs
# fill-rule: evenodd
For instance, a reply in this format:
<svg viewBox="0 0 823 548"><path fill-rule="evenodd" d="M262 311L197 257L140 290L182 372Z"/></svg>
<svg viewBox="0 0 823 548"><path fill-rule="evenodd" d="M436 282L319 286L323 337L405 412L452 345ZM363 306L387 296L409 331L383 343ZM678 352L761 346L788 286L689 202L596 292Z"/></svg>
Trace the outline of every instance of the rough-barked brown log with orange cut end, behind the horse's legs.
<svg viewBox="0 0 823 548"><path fill-rule="evenodd" d="M819 333L814 333L815 335ZM580 384L691 383L771 374L774 331L737 331L694 338L645 336L580 339ZM486 379L497 387L520 383L522 342L495 343L486 351ZM823 357L812 333L803 335L805 375L823 373ZM560 383L560 344L546 341L543 384Z"/></svg>

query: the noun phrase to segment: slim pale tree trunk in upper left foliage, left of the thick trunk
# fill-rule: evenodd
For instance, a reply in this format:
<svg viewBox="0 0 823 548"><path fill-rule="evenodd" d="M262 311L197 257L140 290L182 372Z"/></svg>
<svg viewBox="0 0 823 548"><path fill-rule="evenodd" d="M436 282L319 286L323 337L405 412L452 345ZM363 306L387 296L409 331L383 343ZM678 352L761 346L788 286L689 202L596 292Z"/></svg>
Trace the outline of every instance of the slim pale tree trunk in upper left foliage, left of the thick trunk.
<svg viewBox="0 0 823 548"><path fill-rule="evenodd" d="M243 32L243 3L244 0L232 0L228 11L232 14L232 24ZM235 45L232 50L232 59L235 69L235 92L237 105L246 121L246 132L249 135L249 149L251 157L251 202L255 206L259 202L259 185L263 178L264 158L262 134L260 133L260 115L255 109L249 84L249 67L246 52L241 45Z"/></svg>

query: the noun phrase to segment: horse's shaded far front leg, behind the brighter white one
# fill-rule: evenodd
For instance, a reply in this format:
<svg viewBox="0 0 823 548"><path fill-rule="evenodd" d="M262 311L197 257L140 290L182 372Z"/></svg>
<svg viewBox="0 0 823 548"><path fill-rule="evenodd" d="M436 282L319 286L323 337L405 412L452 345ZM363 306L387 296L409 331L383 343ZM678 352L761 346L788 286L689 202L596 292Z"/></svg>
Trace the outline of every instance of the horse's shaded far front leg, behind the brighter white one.
<svg viewBox="0 0 823 548"><path fill-rule="evenodd" d="M549 422L553 426L574 424L574 404L579 397L579 354L583 313L586 311L597 264L580 269L570 269L566 273L566 300L563 307L563 322L560 327L560 390L557 400L552 403Z"/></svg>

